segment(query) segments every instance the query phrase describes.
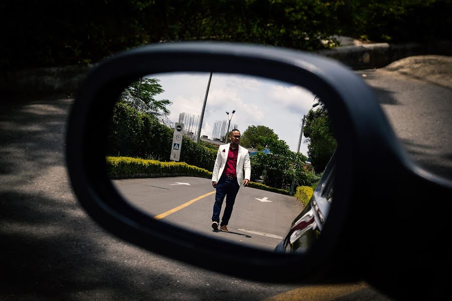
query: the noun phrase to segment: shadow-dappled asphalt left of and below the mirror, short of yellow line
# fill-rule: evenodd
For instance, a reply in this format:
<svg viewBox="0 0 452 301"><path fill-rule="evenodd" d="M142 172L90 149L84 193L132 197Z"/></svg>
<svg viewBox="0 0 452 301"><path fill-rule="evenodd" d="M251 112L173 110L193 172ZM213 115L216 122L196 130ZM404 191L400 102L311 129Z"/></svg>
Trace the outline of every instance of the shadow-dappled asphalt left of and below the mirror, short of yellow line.
<svg viewBox="0 0 452 301"><path fill-rule="evenodd" d="M103 231L68 182L70 104L49 98L0 110L1 300L259 300L295 287L192 267Z"/></svg>

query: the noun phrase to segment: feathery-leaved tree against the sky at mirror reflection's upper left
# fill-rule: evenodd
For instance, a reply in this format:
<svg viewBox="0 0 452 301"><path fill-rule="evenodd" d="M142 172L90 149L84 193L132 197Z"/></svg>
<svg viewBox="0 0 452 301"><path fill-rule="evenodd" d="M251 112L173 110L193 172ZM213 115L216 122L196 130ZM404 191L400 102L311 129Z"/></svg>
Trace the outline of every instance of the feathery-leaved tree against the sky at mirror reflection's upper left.
<svg viewBox="0 0 452 301"><path fill-rule="evenodd" d="M172 102L168 99L157 100L155 95L163 93L162 86L157 78L141 78L133 82L121 94L121 100L129 103L141 112L151 113L155 117L168 116L170 111L166 108Z"/></svg>

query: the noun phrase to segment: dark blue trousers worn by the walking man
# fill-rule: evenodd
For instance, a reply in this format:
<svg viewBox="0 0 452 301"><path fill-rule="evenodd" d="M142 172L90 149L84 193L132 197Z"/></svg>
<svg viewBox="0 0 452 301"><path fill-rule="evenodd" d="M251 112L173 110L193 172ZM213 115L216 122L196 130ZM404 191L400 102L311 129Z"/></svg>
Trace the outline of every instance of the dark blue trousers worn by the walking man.
<svg viewBox="0 0 452 301"><path fill-rule="evenodd" d="M237 178L232 180L226 176L221 176L216 183L215 203L213 204L212 222L219 223L219 214L221 211L221 205L223 204L224 197L226 197L226 207L224 208L223 217L221 218L221 224L228 225L231 218L234 202L236 201L237 193L239 192L240 185L237 183Z"/></svg>

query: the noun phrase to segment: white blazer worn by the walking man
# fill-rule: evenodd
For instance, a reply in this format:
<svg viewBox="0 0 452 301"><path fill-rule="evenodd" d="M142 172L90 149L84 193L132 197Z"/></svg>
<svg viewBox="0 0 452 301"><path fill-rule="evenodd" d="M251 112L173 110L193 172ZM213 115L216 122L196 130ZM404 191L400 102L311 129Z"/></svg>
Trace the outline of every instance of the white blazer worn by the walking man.
<svg viewBox="0 0 452 301"><path fill-rule="evenodd" d="M218 182L219 178L223 174L226 161L228 160L229 147L231 143L223 144L218 147L218 153L216 154L215 165L213 166L212 182ZM223 152L224 150L224 152ZM245 171L245 177L243 173ZM237 182L243 186L243 180L251 178L251 161L248 149L239 145L239 154L237 156Z"/></svg>

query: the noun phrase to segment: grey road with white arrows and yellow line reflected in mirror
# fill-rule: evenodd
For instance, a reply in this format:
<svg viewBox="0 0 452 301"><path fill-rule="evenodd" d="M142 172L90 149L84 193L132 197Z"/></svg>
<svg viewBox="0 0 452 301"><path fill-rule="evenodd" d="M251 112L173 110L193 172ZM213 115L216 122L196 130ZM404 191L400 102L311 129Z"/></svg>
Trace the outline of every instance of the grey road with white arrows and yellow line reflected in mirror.
<svg viewBox="0 0 452 301"><path fill-rule="evenodd" d="M241 188L228 225L229 232L216 232L211 228L215 190L210 179L127 179L114 183L132 205L150 216L209 237L270 251L287 234L290 223L303 209L295 197Z"/></svg>

